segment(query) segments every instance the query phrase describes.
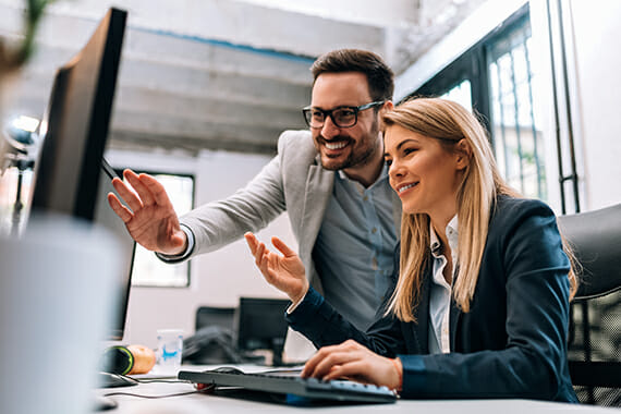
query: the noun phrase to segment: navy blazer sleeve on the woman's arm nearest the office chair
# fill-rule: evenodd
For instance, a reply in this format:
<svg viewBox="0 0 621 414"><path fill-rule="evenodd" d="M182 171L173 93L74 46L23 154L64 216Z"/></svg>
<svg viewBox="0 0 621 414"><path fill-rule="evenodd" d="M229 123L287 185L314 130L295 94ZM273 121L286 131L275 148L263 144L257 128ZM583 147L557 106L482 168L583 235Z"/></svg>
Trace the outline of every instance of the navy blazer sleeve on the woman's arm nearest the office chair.
<svg viewBox="0 0 621 414"><path fill-rule="evenodd" d="M502 217L490 227L482 273L504 278L506 348L399 355L404 398L575 401L567 372L570 264L556 218L538 202L522 204ZM495 260L492 255L500 257ZM476 294L475 299L485 302Z"/></svg>

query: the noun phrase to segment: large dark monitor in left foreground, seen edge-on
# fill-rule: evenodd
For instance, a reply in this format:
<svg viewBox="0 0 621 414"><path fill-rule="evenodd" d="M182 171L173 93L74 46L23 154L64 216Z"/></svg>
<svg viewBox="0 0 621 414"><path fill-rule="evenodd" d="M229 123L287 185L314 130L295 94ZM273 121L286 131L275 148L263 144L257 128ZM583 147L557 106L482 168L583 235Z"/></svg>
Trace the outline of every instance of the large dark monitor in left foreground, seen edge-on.
<svg viewBox="0 0 621 414"><path fill-rule="evenodd" d="M102 155L108 136L126 12L110 9L83 49L57 72L39 134L31 215L60 214L106 226L126 256L118 276L117 317L104 336L123 337L134 242L105 204L113 171ZM27 224L26 224L27 227Z"/></svg>

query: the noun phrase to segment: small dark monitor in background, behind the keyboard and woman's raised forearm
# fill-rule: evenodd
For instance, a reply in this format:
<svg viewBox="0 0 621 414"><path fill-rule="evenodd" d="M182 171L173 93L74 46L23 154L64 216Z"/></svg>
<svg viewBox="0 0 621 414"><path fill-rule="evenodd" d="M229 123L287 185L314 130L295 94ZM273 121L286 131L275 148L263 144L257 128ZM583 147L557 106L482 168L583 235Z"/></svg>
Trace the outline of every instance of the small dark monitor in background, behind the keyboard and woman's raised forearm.
<svg viewBox="0 0 621 414"><path fill-rule="evenodd" d="M288 328L284 312L290 303L283 299L240 297L235 321L238 349L272 351L272 364L281 365Z"/></svg>

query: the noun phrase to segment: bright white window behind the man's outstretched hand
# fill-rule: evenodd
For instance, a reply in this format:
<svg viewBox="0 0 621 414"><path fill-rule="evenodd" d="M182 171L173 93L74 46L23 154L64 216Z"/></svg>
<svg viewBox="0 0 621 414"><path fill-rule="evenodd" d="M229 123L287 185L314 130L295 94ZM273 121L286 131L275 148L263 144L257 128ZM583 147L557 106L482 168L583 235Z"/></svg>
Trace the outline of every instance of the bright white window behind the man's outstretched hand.
<svg viewBox="0 0 621 414"><path fill-rule="evenodd" d="M168 173L150 173L158 180L178 215L190 211L194 205L194 178ZM132 285L184 288L190 285L190 263L166 264L153 252L136 244L132 267Z"/></svg>

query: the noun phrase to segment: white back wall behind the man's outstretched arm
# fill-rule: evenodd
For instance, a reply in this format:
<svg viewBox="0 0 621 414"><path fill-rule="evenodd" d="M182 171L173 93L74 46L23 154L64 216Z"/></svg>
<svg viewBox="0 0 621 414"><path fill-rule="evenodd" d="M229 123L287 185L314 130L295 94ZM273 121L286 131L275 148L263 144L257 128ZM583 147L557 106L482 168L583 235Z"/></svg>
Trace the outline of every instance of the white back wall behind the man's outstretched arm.
<svg viewBox="0 0 621 414"><path fill-rule="evenodd" d="M195 205L232 194L270 159L261 155L227 151L205 151L197 158L109 151L106 157L114 167L195 174ZM297 248L287 215L280 216L258 234L266 241L278 235ZM241 240L192 259L191 272L190 288L132 288L125 343L155 348L156 330L160 328L182 328L191 334L196 308L202 305L236 306L240 296L284 297L263 280Z"/></svg>

